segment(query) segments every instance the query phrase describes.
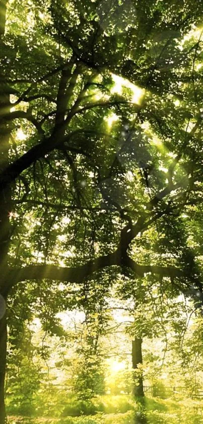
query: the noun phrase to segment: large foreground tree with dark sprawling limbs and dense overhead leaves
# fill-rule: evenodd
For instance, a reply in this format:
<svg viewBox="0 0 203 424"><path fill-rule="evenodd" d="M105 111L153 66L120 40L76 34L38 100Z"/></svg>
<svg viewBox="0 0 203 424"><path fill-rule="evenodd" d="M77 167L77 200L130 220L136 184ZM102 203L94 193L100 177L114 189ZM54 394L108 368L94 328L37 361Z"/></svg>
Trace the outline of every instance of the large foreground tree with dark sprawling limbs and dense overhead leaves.
<svg viewBox="0 0 203 424"><path fill-rule="evenodd" d="M114 266L201 301L202 14L200 0L1 0L5 300Z"/></svg>

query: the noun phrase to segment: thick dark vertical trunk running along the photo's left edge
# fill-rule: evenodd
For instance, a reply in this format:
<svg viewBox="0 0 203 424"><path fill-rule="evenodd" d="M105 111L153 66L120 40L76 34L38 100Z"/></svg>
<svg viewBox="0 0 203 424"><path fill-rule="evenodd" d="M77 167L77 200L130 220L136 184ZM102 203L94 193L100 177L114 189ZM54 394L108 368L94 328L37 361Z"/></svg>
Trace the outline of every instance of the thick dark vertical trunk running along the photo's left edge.
<svg viewBox="0 0 203 424"><path fill-rule="evenodd" d="M6 12L8 0L0 1L0 51L5 51L4 34L6 25ZM4 63L4 58L1 58ZM4 67L0 75L0 171L9 165L9 139L11 125L4 120L5 114L10 112L10 95L6 82L8 72ZM6 290L6 270L8 261L8 250L10 243L10 218L11 212L11 189L1 187L0 195L0 294L5 297ZM0 424L5 424L5 374L7 356L7 318L6 313L0 319Z"/></svg>

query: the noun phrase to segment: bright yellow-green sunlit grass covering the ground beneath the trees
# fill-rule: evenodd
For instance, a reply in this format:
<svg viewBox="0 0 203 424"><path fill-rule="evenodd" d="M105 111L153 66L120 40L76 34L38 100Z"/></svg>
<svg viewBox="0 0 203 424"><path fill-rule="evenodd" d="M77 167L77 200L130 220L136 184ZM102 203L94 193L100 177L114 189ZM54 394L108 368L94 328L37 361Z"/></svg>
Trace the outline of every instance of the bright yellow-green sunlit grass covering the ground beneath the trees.
<svg viewBox="0 0 203 424"><path fill-rule="evenodd" d="M97 397L89 407L90 410L84 413L75 401L74 413L82 413L81 416L73 416L73 409L72 416L64 416L63 409L58 418L10 416L9 424L203 424L202 403L192 399L146 398L145 405L142 405L130 396L107 395Z"/></svg>

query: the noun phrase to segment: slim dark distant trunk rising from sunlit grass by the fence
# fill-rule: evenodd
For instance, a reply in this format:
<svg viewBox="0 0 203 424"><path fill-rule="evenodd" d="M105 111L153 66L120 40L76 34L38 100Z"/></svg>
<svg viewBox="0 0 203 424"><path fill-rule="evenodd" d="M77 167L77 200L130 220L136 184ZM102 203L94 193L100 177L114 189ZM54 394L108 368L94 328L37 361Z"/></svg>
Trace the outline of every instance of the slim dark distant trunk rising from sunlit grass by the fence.
<svg viewBox="0 0 203 424"><path fill-rule="evenodd" d="M143 371L139 365L143 364L142 355L142 339L134 338L132 340L132 368L133 373L133 388L132 392L135 397L144 397L143 389Z"/></svg>

